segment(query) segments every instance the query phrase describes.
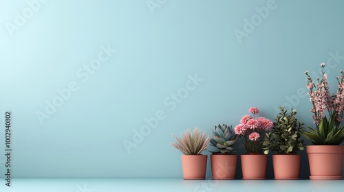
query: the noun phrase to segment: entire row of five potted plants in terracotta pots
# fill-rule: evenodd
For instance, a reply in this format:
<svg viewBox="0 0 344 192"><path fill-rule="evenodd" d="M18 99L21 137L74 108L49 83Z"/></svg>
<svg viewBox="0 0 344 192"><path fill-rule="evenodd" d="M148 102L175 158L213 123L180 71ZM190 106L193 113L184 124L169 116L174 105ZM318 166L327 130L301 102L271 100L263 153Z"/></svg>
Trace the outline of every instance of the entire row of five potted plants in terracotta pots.
<svg viewBox="0 0 344 192"><path fill-rule="evenodd" d="M306 146L310 165L311 180L341 180L343 167L344 126L340 126L344 110L344 73L338 80L338 90L330 95L327 75L323 72L325 64L321 64L322 78L315 85L307 75L307 88L312 101L311 112L315 128L304 127L296 118L296 110L288 113L283 106L279 107L279 115L275 121L264 117L256 117L259 110L252 107L251 115L244 115L239 124L233 128L215 125L211 130L211 138L197 127L186 130L180 138L175 137L171 145L179 149L182 155L184 179L204 179L207 156L201 155L210 147L211 169L213 179L234 179L237 155L234 154L238 139L243 141L245 153L241 155L241 170L244 179L264 179L266 176L267 154L273 152L272 163L275 179L297 179L301 156L297 154L305 149L303 139L313 145ZM325 114L329 115L329 119Z"/></svg>

